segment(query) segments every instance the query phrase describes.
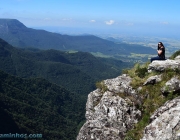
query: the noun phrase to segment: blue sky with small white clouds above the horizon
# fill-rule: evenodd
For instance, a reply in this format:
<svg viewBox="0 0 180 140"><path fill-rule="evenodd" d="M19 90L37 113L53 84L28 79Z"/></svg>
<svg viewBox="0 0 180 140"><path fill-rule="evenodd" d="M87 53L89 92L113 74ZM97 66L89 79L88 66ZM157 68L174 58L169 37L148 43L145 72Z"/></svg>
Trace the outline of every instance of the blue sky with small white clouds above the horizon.
<svg viewBox="0 0 180 140"><path fill-rule="evenodd" d="M27 27L178 34L180 0L0 0L0 18Z"/></svg>

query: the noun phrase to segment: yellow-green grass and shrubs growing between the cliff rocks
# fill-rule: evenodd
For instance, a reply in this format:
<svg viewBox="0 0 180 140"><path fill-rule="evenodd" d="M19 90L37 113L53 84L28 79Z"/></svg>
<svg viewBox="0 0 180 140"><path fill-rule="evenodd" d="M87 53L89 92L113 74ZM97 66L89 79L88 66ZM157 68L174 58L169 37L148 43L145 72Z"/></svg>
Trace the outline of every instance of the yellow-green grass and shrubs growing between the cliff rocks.
<svg viewBox="0 0 180 140"><path fill-rule="evenodd" d="M177 52L178 53L178 52ZM179 53L178 53L179 54ZM175 54L174 54L175 55ZM173 55L173 56L174 56ZM179 69L166 69L163 73L153 72L148 73L147 67L149 63L140 65L136 64L134 68L129 70L124 70L124 73L128 74L133 78L131 82L131 86L135 89L138 87L142 87L139 92L140 97L142 97L141 105L138 105L138 109L142 111L141 120L135 124L132 130L129 130L126 135L126 140L139 140L142 137L143 129L146 125L149 124L149 119L152 113L163 105L166 101L173 99L178 96L179 93L169 93L167 95L163 95L161 92L161 88L165 85L165 82L170 80L175 75L180 78L180 70ZM150 77L154 75L162 74L162 81L158 82L154 85L145 85L143 83Z"/></svg>

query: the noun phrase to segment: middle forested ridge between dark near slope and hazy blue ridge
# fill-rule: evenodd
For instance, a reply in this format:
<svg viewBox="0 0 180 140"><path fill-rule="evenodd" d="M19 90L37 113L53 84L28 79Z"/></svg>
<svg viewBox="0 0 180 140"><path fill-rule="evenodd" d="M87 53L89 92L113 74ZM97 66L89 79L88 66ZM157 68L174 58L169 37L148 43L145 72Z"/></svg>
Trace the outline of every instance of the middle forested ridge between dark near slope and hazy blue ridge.
<svg viewBox="0 0 180 140"><path fill-rule="evenodd" d="M22 78L42 77L84 95L95 88L97 81L118 76L129 66L85 52L19 49L0 39L1 70Z"/></svg>

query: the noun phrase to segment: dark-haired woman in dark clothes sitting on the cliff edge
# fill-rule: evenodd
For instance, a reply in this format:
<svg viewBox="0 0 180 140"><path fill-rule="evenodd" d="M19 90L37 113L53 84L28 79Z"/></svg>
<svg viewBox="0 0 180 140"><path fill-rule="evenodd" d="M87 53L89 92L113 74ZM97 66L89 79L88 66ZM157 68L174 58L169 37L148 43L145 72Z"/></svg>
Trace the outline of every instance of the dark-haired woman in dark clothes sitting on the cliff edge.
<svg viewBox="0 0 180 140"><path fill-rule="evenodd" d="M165 60L165 47L162 42L158 43L157 53L158 56L152 57L151 62L154 60Z"/></svg>

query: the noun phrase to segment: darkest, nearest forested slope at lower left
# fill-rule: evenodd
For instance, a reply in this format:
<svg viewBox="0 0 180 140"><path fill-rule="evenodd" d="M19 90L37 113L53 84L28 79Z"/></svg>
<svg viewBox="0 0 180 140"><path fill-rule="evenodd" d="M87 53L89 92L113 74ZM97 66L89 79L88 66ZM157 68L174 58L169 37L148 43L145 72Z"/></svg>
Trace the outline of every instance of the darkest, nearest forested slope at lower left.
<svg viewBox="0 0 180 140"><path fill-rule="evenodd" d="M22 79L0 71L1 134L42 134L72 140L84 120L80 96L45 79Z"/></svg>

